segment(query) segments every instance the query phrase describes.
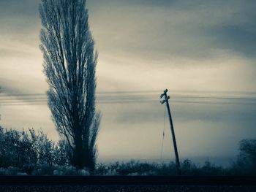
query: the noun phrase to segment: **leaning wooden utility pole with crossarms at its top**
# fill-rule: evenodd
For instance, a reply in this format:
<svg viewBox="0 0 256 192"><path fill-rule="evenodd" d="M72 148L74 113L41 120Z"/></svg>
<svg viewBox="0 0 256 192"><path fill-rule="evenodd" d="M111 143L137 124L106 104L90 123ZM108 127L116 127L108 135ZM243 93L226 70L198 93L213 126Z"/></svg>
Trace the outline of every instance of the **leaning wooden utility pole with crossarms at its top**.
<svg viewBox="0 0 256 192"><path fill-rule="evenodd" d="M172 133L173 136L173 147L174 147L174 152L175 152L175 157L176 157L176 168L178 171L178 174L181 174L181 166L179 164L179 158L178 158L178 149L177 149L177 144L176 144L176 138L175 138L175 133L174 133L174 128L173 128L173 120L172 120L172 115L170 114L170 105L169 105L169 99L170 96L167 96L167 89L165 89L164 93L161 94L160 99L162 99L163 96L165 96L165 99L163 99L162 101L160 101L161 104L166 103L166 107L168 110L168 115L169 115L169 120L170 120L170 131Z"/></svg>

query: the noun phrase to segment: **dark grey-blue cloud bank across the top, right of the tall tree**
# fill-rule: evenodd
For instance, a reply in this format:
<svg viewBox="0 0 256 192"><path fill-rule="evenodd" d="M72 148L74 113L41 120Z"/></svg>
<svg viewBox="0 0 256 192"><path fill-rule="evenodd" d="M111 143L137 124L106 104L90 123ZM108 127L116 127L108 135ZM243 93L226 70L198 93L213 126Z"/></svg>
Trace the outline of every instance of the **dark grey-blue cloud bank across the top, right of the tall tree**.
<svg viewBox="0 0 256 192"><path fill-rule="evenodd" d="M213 49L252 57L255 6L238 0L89 1L89 12L100 52L161 61L217 57Z"/></svg>

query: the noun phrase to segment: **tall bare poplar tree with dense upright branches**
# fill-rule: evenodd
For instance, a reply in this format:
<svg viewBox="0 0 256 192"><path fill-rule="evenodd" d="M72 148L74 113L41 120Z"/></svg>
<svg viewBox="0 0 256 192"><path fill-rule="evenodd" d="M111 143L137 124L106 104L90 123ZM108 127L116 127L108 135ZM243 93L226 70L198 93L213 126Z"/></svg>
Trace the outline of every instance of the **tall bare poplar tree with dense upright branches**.
<svg viewBox="0 0 256 192"><path fill-rule="evenodd" d="M97 53L86 0L41 0L39 13L53 121L67 142L72 165L94 169L100 115L95 110Z"/></svg>

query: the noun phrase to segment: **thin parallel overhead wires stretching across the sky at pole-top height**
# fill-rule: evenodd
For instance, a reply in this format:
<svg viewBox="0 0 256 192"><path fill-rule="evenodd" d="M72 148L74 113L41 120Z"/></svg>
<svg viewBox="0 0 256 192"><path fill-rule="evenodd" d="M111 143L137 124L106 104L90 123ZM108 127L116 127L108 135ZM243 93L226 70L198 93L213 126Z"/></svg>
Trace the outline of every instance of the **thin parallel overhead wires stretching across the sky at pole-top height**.
<svg viewBox="0 0 256 192"><path fill-rule="evenodd" d="M181 92L181 91L180 91ZM113 91L97 92L98 104L132 104L132 103L157 103L159 102L159 91ZM193 94L194 93L194 94ZM196 93L196 94L195 94ZM200 94L199 94L200 93ZM208 95L206 95L208 93ZM209 94L211 93L211 94ZM222 94L220 94L222 93ZM190 91L188 93L172 92L170 99L173 103L184 104L256 104L255 92L232 92L240 95L223 95L231 92L203 92ZM204 95L202 95L204 94ZM215 95L214 95L215 94ZM242 95L242 96L241 96ZM24 93L24 94L0 94L0 105L26 105L26 104L47 104L48 99L45 93Z"/></svg>

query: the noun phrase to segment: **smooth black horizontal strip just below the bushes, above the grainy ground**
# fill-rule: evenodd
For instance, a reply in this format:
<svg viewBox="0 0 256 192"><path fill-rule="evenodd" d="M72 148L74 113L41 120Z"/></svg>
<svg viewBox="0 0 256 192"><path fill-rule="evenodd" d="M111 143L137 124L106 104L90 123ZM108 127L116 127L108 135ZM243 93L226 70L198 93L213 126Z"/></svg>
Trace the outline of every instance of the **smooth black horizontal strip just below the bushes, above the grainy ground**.
<svg viewBox="0 0 256 192"><path fill-rule="evenodd" d="M256 185L256 177L0 176L0 185Z"/></svg>

